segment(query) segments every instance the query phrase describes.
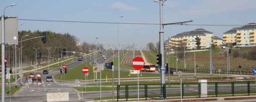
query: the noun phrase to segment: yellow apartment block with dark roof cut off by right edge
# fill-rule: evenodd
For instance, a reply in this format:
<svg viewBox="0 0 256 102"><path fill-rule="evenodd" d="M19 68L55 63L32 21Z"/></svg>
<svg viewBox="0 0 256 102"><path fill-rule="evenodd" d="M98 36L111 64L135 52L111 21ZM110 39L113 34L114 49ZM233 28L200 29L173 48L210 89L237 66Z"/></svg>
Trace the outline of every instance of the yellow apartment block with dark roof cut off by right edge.
<svg viewBox="0 0 256 102"><path fill-rule="evenodd" d="M223 42L235 43L237 46L256 44L256 23L248 23L245 26L232 28L223 33Z"/></svg>

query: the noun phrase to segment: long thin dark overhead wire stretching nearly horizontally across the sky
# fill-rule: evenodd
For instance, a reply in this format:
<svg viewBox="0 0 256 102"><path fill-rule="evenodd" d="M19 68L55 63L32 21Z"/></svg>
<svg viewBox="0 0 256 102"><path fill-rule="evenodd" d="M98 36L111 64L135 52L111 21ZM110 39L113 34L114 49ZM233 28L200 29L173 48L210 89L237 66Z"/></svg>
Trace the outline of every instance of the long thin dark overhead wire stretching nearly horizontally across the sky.
<svg viewBox="0 0 256 102"><path fill-rule="evenodd" d="M84 22L84 21L56 21L56 20L29 20L29 19L18 19L24 21L49 21L49 22L69 22L69 23L101 23L101 24L118 24L118 23L106 23L106 22ZM142 25L160 25L154 23L119 23L119 24L142 24ZM213 25L213 24L172 24L172 25L183 25L183 26L244 26L244 25Z"/></svg>

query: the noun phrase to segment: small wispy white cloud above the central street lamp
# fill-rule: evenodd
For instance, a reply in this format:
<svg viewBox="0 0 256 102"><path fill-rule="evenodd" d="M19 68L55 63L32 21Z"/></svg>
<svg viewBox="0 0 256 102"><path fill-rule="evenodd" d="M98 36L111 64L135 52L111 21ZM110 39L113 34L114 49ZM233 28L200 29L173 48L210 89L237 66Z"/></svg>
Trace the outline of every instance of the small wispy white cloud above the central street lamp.
<svg viewBox="0 0 256 102"><path fill-rule="evenodd" d="M137 11L136 7L132 7L132 6L126 5L125 3L120 3L120 2L113 3L111 7L116 10Z"/></svg>

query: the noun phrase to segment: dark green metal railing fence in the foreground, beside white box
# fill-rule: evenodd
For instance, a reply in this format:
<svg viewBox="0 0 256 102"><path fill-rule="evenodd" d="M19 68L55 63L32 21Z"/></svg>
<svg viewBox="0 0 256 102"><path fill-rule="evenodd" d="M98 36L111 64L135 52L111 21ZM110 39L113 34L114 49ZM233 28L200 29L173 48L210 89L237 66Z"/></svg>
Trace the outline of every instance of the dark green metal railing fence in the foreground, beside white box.
<svg viewBox="0 0 256 102"><path fill-rule="evenodd" d="M181 96L233 95L256 93L256 81L207 82L182 84L117 85L117 101L129 98L160 98ZM181 90L182 89L182 90Z"/></svg>

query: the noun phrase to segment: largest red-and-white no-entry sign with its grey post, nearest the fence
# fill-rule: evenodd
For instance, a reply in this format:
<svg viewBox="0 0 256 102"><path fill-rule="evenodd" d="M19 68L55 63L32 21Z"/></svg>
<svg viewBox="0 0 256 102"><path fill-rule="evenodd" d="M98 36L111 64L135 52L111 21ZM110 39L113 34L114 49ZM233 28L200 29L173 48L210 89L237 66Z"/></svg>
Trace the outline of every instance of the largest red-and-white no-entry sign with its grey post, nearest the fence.
<svg viewBox="0 0 256 102"><path fill-rule="evenodd" d="M139 71L144 67L144 60L141 57L135 57L133 59L132 65L134 69L137 69L137 75L138 75L138 102L139 102Z"/></svg>

